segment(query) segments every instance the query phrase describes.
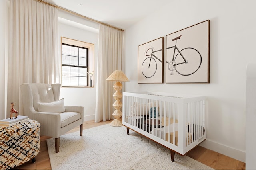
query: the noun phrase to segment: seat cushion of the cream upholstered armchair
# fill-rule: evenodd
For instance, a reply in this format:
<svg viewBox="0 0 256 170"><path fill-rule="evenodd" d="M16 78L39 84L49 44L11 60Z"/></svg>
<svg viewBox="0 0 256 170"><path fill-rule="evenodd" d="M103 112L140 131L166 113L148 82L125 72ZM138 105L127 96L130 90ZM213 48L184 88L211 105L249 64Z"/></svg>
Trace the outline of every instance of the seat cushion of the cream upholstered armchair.
<svg viewBox="0 0 256 170"><path fill-rule="evenodd" d="M60 113L60 127L64 127L74 121L81 118L81 114L78 112L63 112Z"/></svg>

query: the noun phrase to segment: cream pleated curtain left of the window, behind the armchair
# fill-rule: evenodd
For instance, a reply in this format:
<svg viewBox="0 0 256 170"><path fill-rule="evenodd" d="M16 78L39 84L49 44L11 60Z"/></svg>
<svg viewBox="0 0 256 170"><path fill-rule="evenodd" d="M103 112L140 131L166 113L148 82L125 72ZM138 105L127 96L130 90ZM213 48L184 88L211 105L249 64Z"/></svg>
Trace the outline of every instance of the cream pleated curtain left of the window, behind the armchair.
<svg viewBox="0 0 256 170"><path fill-rule="evenodd" d="M36 0L10 0L9 17L7 113L14 102L23 115L20 84L60 82L58 10Z"/></svg>

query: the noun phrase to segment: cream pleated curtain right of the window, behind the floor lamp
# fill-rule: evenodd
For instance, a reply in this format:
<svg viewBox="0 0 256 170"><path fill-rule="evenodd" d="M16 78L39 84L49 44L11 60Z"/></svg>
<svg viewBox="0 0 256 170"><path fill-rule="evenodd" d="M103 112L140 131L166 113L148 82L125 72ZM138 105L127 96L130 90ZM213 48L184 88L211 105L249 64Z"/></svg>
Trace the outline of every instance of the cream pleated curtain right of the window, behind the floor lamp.
<svg viewBox="0 0 256 170"><path fill-rule="evenodd" d="M98 63L96 79L95 122L114 119L113 85L115 82L106 79L115 70L121 70L124 54L124 32L100 24Z"/></svg>

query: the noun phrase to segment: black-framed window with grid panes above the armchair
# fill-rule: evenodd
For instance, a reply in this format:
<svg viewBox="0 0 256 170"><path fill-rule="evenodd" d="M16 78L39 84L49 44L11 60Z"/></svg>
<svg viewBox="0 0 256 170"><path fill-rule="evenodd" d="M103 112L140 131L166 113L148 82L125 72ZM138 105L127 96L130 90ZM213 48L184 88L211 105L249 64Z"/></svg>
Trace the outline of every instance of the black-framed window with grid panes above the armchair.
<svg viewBox="0 0 256 170"><path fill-rule="evenodd" d="M88 48L62 43L62 86L88 86Z"/></svg>

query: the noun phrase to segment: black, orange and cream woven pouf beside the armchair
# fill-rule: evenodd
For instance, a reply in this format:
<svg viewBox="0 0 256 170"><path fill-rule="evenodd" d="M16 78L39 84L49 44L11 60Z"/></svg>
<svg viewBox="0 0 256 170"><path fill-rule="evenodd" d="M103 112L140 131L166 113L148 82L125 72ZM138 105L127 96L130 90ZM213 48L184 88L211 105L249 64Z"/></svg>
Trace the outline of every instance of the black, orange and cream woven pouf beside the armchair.
<svg viewBox="0 0 256 170"><path fill-rule="evenodd" d="M0 169L15 168L34 158L40 150L40 124L28 120L0 127Z"/></svg>

